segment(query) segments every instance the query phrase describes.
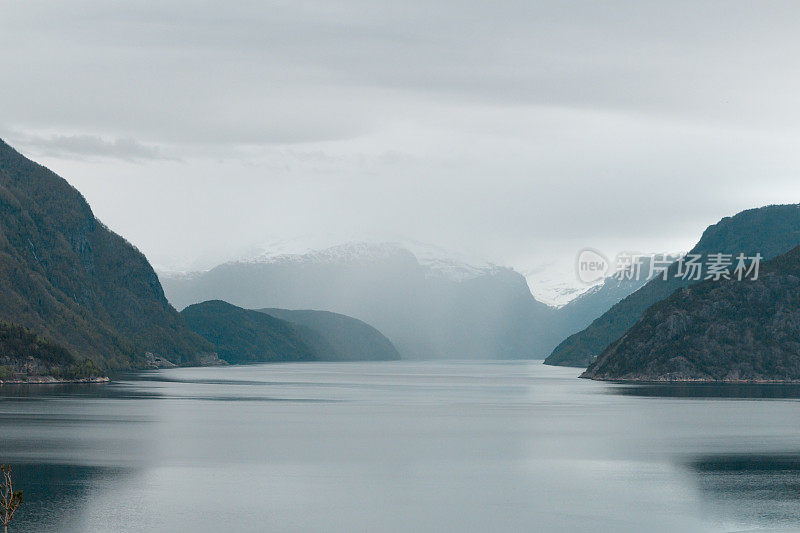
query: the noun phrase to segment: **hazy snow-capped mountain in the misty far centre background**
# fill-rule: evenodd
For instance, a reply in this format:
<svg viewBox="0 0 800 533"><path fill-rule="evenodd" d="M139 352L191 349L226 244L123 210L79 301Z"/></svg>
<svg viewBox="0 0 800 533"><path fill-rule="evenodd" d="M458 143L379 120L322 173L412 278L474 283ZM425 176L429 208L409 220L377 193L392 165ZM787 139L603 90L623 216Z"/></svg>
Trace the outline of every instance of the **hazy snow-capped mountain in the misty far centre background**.
<svg viewBox="0 0 800 533"><path fill-rule="evenodd" d="M407 358L541 358L560 340L555 310L509 268L421 262L395 244L356 243L162 276L177 307L319 309L380 330Z"/></svg>

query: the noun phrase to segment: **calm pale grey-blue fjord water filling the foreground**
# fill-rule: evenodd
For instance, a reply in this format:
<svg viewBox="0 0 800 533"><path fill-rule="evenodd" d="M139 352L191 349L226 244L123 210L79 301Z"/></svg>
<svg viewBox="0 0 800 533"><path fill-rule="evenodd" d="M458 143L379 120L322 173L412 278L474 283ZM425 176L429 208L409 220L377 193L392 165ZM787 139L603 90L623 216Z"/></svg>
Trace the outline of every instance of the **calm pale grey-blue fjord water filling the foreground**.
<svg viewBox="0 0 800 533"><path fill-rule="evenodd" d="M185 368L0 387L11 531L800 525L800 389L540 362Z"/></svg>

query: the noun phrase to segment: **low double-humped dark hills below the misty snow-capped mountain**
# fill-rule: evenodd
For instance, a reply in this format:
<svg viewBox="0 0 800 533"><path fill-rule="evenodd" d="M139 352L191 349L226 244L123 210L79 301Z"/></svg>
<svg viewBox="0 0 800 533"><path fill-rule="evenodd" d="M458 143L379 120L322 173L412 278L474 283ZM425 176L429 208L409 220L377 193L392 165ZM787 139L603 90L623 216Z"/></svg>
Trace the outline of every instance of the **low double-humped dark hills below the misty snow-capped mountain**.
<svg viewBox="0 0 800 533"><path fill-rule="evenodd" d="M336 313L253 311L210 300L190 305L181 315L229 363L399 358L394 346L375 328Z"/></svg>

